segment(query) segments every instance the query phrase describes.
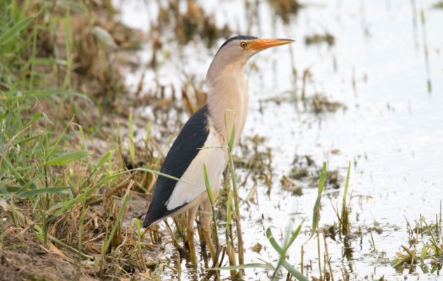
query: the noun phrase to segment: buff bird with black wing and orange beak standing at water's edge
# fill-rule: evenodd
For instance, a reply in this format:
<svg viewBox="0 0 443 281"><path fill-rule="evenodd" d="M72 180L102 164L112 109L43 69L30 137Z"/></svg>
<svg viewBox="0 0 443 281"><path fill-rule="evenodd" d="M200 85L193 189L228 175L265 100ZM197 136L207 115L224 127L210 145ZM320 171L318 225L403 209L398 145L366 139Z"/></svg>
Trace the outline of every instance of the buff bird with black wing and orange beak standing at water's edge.
<svg viewBox="0 0 443 281"><path fill-rule="evenodd" d="M226 148L233 129L235 147L245 127L249 99L245 64L261 50L292 42L294 40L245 35L225 41L207 70L205 105L184 124L165 157L142 226L149 228L167 217L189 212L187 235L191 259L195 259L193 221L198 207L211 212L203 165L213 198L217 198L221 175L229 161L228 152L223 148ZM200 216L204 233L210 231L211 223L212 217Z"/></svg>

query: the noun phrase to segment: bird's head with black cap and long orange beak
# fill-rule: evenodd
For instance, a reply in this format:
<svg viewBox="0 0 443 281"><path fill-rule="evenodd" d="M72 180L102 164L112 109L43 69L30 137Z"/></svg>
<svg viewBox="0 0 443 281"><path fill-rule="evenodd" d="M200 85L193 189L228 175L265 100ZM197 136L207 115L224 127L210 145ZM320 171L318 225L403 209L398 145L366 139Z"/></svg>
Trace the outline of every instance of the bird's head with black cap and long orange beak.
<svg viewBox="0 0 443 281"><path fill-rule="evenodd" d="M229 63L245 64L253 55L267 48L294 42L290 39L259 39L254 36L235 36L221 45L216 57Z"/></svg>

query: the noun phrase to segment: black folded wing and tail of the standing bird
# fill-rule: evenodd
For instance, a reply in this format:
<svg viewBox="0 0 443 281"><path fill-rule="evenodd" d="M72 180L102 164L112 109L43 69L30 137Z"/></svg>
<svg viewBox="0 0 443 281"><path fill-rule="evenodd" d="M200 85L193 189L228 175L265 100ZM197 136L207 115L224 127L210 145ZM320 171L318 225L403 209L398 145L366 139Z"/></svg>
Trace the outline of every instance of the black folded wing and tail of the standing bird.
<svg viewBox="0 0 443 281"><path fill-rule="evenodd" d="M205 105L184 124L182 131L172 144L160 172L178 179L181 178L191 165L192 160L196 158L200 148L204 146L208 135L207 106ZM176 184L175 179L158 176L149 210L144 217L143 227L151 226L155 221L168 217L169 214L186 205L179 206L174 210L166 209L166 202L174 191Z"/></svg>

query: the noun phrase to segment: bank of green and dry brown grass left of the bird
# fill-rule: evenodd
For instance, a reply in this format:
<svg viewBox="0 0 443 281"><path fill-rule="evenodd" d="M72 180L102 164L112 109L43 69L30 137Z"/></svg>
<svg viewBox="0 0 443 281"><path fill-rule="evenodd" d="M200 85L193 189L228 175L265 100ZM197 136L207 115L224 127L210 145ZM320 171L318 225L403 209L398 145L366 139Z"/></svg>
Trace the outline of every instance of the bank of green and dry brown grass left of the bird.
<svg viewBox="0 0 443 281"><path fill-rule="evenodd" d="M57 3L0 3L0 272L149 273L139 247L149 243L123 221L129 202L146 200L133 192L153 178L133 177L119 134L102 130L116 125L103 108L125 91L114 50L135 46L123 35L135 32L114 21L108 1Z"/></svg>

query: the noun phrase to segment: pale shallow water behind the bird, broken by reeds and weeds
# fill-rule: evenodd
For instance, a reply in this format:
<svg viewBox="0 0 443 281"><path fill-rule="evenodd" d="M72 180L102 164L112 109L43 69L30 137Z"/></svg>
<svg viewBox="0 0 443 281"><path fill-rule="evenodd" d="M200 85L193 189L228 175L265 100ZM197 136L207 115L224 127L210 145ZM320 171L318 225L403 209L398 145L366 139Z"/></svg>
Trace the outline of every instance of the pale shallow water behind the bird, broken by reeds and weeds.
<svg viewBox="0 0 443 281"><path fill-rule="evenodd" d="M156 18L156 2L115 2L121 8L123 22L149 31L149 22ZM408 275L407 270L397 273L390 266L400 245L409 245L405 217L413 227L420 214L428 222L435 222L443 200L443 11L430 8L435 1L416 2L416 18L411 1L307 2L307 8L300 11L289 27L279 21L273 23L266 2L261 3L260 25L252 27L251 34L291 38L297 42L266 50L254 57L252 62L257 64L259 71L246 69L250 115L243 139L256 134L266 137L265 145L272 149L274 168L270 196L266 195L268 187L258 181L258 204L243 205L241 210L247 263L259 262L258 259L275 263L278 256L264 230L273 226L275 234L285 233L288 231L285 226L292 217L297 225L306 219L303 228L306 233L296 240L289 252L289 261L299 268L300 246L308 237L317 189L305 188L302 196L292 196L282 191L280 178L291 170L296 155L309 155L318 164L327 161L328 170L339 169L341 177L346 176L348 162L352 162L350 219L354 230L361 226L363 239L350 240L352 257L344 254L343 242L327 240L335 280L341 278L341 267L348 268L351 280L366 277L378 280L383 275L386 280L442 278L438 271L425 274L417 268L416 273ZM227 22L241 33L247 30L243 1L221 1L217 7L205 3L204 6L209 13L215 13L220 25ZM431 93L427 88L423 27L419 18L421 9L426 18ZM306 34L325 30L335 36L334 46L306 46ZM345 104L346 110L315 115L301 107L299 102L269 101L290 98L294 90L289 48L294 52L299 75L309 68L316 90L327 95L329 100ZM217 47L207 50L198 41L179 49L172 41L171 57L157 73L145 67L135 73L128 72L128 86L136 87L143 72L146 85L157 76L163 83L172 83L179 89L183 81L182 71L202 81L216 51ZM150 56L151 50L146 46L140 53L140 60L147 62ZM175 60L177 57L181 58ZM297 85L300 88L301 82L298 81ZM313 83L308 83L307 95L312 96L315 88ZM154 118L149 110L142 113ZM244 175L240 172L240 177ZM240 190L242 198L247 196L252 185L252 181L248 181ZM343 184L341 186L339 190L325 191L320 226L337 221L332 205L341 207ZM261 220L262 215L264 220ZM368 230L374 222L383 229L381 234L372 233L375 252L369 242ZM220 232L224 237L224 229ZM250 250L257 242L265 246L260 254ZM419 250L421 245L418 244ZM320 248L324 252L324 247ZM310 276L318 277L317 240L308 242L304 250L305 264L313 262ZM175 249L169 246L168 252L173 254ZM205 274L203 261L197 269L187 269L185 263L182 260L182 280L197 280L200 279L198 275ZM263 270L250 269L246 273L245 280L268 279ZM175 278L175 273L165 270L162 280Z"/></svg>

